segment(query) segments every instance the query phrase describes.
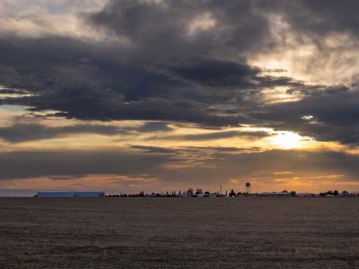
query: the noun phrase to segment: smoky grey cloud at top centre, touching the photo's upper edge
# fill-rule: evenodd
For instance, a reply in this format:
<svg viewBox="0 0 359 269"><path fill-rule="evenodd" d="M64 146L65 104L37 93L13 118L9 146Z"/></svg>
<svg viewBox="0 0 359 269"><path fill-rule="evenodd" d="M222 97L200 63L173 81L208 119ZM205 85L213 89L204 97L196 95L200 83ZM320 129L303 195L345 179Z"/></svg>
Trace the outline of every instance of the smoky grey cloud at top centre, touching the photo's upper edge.
<svg viewBox="0 0 359 269"><path fill-rule="evenodd" d="M137 46L143 45L150 55L182 58L191 54L207 55L210 50L224 47L254 50L263 43L269 44L268 21L255 9L251 1L165 1L164 4L154 4L114 0L88 19L94 26L126 37ZM193 20L208 13L215 19L216 27L188 36Z"/></svg>

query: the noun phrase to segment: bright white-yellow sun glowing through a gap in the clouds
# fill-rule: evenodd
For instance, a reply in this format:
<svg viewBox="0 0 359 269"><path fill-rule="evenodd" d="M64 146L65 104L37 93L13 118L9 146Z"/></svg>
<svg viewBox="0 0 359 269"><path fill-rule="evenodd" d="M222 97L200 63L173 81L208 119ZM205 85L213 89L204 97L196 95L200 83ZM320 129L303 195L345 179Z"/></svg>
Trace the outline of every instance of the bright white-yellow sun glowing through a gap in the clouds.
<svg viewBox="0 0 359 269"><path fill-rule="evenodd" d="M275 135L274 135L275 134ZM275 132L272 137L268 139L272 144L279 147L280 149L293 149L293 148L302 148L310 140L307 137L300 136L293 132L288 131L278 131Z"/></svg>

